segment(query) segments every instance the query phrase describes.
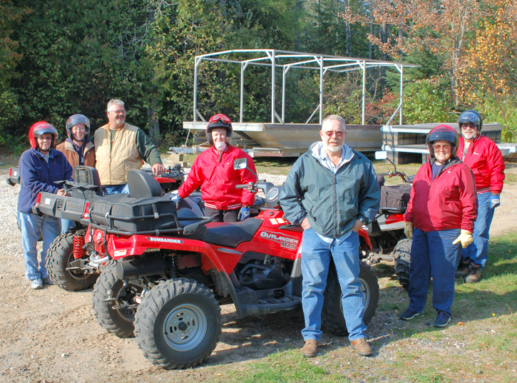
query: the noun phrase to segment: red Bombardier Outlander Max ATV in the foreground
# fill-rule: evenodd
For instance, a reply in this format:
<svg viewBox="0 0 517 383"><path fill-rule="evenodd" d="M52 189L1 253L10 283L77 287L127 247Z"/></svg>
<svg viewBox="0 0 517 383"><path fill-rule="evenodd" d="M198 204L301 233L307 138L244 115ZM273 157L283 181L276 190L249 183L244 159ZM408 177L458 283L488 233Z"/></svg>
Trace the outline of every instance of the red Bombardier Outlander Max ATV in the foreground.
<svg viewBox="0 0 517 383"><path fill-rule="evenodd" d="M247 168L245 158L234 167ZM240 318L301 307L302 228L285 220L281 187L265 180L240 185L253 193L263 190L265 208L239 223L210 223L188 198L176 207L160 197L155 180L138 170L130 173L130 190L140 193L93 198L86 213L90 260L106 262L93 287L93 312L108 332L134 334L151 362L182 369L213 352L221 335L220 305L235 304ZM364 262L359 278L368 323L379 285ZM334 265L324 295L322 324L346 335Z"/></svg>

